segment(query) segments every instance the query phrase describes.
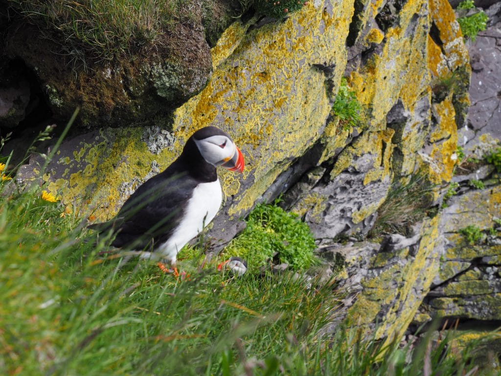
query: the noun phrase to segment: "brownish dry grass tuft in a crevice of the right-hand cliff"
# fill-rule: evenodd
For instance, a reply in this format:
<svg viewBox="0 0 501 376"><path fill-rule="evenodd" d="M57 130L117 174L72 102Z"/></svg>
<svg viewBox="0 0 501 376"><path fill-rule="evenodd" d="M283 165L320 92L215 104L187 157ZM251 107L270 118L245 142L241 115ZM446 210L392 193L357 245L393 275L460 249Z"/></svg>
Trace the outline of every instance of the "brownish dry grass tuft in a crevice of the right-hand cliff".
<svg viewBox="0 0 501 376"><path fill-rule="evenodd" d="M431 208L434 186L423 175L413 175L407 183L394 183L369 236L381 233L412 235L412 225L423 220Z"/></svg>

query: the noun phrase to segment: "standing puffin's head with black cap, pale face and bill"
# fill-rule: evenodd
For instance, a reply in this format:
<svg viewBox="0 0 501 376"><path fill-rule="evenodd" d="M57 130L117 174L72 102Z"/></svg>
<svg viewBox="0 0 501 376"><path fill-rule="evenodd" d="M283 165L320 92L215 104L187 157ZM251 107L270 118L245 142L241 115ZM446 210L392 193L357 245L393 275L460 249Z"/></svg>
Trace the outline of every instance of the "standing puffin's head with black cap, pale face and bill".
<svg viewBox="0 0 501 376"><path fill-rule="evenodd" d="M233 140L216 127L204 127L190 137L207 163L243 172L243 155Z"/></svg>

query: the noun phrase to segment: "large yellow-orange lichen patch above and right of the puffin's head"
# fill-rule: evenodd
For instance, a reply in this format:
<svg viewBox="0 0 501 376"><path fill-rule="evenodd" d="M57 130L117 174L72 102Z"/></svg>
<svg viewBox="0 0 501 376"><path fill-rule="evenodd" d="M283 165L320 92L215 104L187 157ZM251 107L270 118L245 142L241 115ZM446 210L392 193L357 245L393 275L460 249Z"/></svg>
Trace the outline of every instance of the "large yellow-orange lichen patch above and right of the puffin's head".
<svg viewBox="0 0 501 376"><path fill-rule="evenodd" d="M176 110L173 129L181 143L183 135L215 125L228 131L242 150L254 182L235 195L228 213L251 208L290 162L320 137L331 105L325 76L312 64L335 64L335 81L340 79L352 14L349 3L328 0L319 8L309 3L285 22L245 35L233 25L214 47L211 80ZM230 178L234 179L221 175L221 185L232 186L234 195L237 184L226 181Z"/></svg>

